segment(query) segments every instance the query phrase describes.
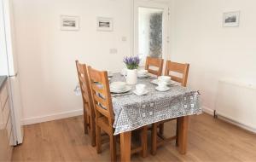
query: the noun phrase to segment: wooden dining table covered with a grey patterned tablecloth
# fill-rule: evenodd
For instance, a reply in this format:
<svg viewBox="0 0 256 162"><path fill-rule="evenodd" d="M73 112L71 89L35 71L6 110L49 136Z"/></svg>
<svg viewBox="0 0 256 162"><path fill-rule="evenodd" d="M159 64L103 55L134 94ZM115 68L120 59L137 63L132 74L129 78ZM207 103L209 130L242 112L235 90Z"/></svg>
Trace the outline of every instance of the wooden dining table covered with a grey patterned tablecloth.
<svg viewBox="0 0 256 162"><path fill-rule="evenodd" d="M202 113L199 92L173 83L170 90L155 90L156 78L138 78L137 84L145 84L148 94L138 96L131 91L124 95L113 95L114 135L120 135L121 161L131 161L131 130L166 119L177 118L177 148L181 154L187 151L189 116ZM125 81L120 73L110 80Z"/></svg>

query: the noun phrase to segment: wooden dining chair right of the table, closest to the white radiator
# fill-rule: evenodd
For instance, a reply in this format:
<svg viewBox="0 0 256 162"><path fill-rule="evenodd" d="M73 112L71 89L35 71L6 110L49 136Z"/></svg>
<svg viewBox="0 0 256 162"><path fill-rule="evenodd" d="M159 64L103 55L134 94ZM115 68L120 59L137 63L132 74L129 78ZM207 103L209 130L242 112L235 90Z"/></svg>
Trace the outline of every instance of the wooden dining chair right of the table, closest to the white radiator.
<svg viewBox="0 0 256 162"><path fill-rule="evenodd" d="M173 73L177 74L174 75ZM183 87L187 85L187 80L188 80L188 74L189 74L189 64L181 64L177 62L172 62L172 61L166 61L166 76L170 76L173 81L176 81L177 83L180 83ZM156 149L162 145L165 144L166 142L171 142L173 140L176 140L176 144L178 145L178 140L177 140L177 130L176 130L176 136L168 137L166 138L164 136L164 124L166 122L172 121L175 119L167 119L158 123L155 123L152 125L152 131L151 131L151 153L154 155L156 154ZM177 118L176 118L177 120ZM177 121L177 129L178 129L178 121ZM159 128L159 132L157 129Z"/></svg>

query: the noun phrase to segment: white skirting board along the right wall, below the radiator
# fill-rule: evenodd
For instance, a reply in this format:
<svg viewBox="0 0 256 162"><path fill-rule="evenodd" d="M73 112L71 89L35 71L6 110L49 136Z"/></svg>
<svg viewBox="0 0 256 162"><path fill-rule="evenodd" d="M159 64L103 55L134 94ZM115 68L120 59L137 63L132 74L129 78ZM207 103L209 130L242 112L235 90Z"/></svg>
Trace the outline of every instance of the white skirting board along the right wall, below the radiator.
<svg viewBox="0 0 256 162"><path fill-rule="evenodd" d="M210 114L212 116L214 115L214 110L212 110L211 108L208 108L208 107L203 107L203 112L207 113L207 114ZM247 125L238 123L238 122L236 122L236 121L234 121L232 119L225 118L224 116L219 115L218 112L217 112L217 116L218 116L218 119L222 119L222 120L224 120L227 123L235 124L236 126L242 128L244 130L248 130L248 131L251 131L253 133L256 133L256 129L250 128Z"/></svg>

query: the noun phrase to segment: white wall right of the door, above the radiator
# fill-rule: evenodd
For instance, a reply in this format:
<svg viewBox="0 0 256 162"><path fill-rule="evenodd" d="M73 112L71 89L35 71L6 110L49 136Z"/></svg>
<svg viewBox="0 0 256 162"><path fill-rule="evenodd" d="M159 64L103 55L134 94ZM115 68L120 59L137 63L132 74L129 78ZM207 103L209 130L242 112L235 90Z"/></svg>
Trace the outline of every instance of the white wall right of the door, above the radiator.
<svg viewBox="0 0 256 162"><path fill-rule="evenodd" d="M189 62L189 86L214 109L218 80L256 82L255 0L172 0L172 61ZM224 28L224 12L241 10L238 28ZM232 95L232 94L230 94ZM242 95L242 94L241 94Z"/></svg>

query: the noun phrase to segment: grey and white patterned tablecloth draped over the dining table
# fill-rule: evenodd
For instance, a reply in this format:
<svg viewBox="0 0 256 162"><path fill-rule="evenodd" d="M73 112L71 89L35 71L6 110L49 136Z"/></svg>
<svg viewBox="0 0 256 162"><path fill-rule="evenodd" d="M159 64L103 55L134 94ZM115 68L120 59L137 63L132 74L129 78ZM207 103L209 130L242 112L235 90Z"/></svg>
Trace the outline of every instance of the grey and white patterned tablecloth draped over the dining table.
<svg viewBox="0 0 256 162"><path fill-rule="evenodd" d="M114 135L162 120L202 113L197 91L171 86L171 90L160 92L155 90L156 85L150 84L152 79L138 79L137 84L147 85L147 95L113 97ZM114 81L125 81L125 78L115 73L111 78L111 82ZM135 90L134 85L132 90Z"/></svg>

